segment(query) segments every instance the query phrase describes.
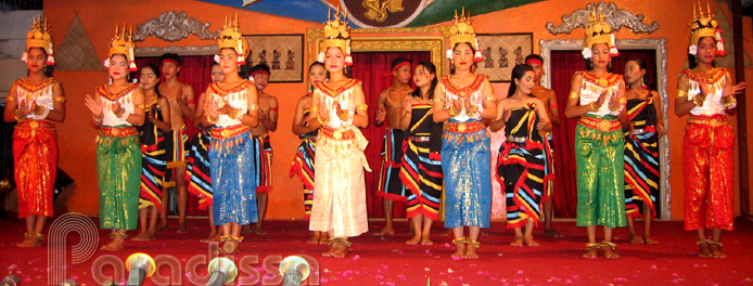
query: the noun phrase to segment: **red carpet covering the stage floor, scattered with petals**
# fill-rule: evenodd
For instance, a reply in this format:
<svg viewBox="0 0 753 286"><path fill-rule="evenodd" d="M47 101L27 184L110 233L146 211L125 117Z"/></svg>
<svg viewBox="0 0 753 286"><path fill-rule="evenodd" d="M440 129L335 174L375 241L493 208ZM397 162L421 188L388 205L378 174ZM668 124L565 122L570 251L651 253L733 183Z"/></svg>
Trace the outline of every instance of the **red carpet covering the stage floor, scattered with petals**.
<svg viewBox="0 0 753 286"><path fill-rule="evenodd" d="M97 223L97 218L93 218ZM191 219L190 233L177 234L176 220L170 221L170 231L157 233L157 240L138 243L127 242L122 251L105 252L97 250L88 260L73 264L71 250L66 277L75 278L79 285L99 285L92 277L92 265L102 263L113 255L122 260L132 252L146 252L152 257L168 255L175 257L180 269L174 269L176 276L169 281L170 269L163 263L159 277L146 281L144 285L194 285L197 277L206 275L208 245L199 242L207 234L205 219ZM371 230L379 230L383 222L373 221ZM49 226L49 223L48 223ZM397 235L376 237L371 233L353 238L350 252L344 259L322 258L326 246L307 245L307 223L304 221L269 221L265 235L245 235L241 252L234 256L241 263L241 282L237 285L279 285L276 271L280 259L290 255L307 255L319 264L318 283L308 285L753 285L753 223L739 220L736 231L725 233L723 243L727 259L698 258L693 235L681 230L681 222L655 222L653 237L659 245L633 246L625 242L627 230L615 233L623 239L616 260L603 257L595 260L580 258L584 252L585 229L575 227L574 222L556 222L554 226L565 238L548 238L536 230L539 247L511 247L512 232L503 230L502 223L494 223L481 237L478 260L452 260L449 255L450 236L443 235L442 225L434 226L433 246L407 246L408 222L397 222ZM20 285L47 285L48 247L17 248L15 243L23 237L23 221L11 219L0 221L3 235L0 236L0 275L16 275ZM106 232L100 231L100 245L109 240ZM80 240L77 234L69 234L68 249ZM48 237L49 239L49 237ZM46 244L48 242L46 240ZM113 258L113 257L110 257ZM167 258L167 259L166 259ZM159 261L170 261L163 257ZM118 261L118 260L114 260ZM266 261L266 262L265 262ZM159 263L159 262L158 262ZM113 266L104 269L112 277ZM192 271L190 269L196 269ZM316 271L314 269L312 271ZM314 275L311 278L317 278ZM125 277L116 278L125 281ZM100 281L102 282L102 281ZM104 282L102 282L104 283ZM200 284L204 285L204 284Z"/></svg>

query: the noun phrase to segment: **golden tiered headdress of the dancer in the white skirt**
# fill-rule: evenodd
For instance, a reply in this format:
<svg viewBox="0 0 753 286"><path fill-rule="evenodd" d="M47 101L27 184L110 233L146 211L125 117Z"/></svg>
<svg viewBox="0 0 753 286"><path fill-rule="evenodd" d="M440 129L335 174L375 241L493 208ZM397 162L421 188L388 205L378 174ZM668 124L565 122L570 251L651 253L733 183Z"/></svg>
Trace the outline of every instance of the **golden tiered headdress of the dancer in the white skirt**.
<svg viewBox="0 0 753 286"><path fill-rule="evenodd" d="M317 61L324 62L324 52L328 48L340 48L345 54L345 65L353 65L353 56L350 55L350 26L347 24L347 11L344 15L340 14L340 6L334 14L334 20L330 16L332 11L327 11L327 23L324 23L324 37L319 46L319 55Z"/></svg>

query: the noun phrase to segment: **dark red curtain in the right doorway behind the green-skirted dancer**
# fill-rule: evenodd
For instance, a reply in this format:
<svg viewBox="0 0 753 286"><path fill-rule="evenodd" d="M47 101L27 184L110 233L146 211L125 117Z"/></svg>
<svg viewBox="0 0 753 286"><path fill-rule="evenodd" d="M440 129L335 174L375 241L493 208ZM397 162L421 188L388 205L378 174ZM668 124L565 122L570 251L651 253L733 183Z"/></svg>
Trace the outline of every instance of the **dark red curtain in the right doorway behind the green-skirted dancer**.
<svg viewBox="0 0 753 286"><path fill-rule="evenodd" d="M625 63L639 57L646 61L649 81L656 82L656 56L654 50L621 50L621 55L612 58L612 67L615 74L625 73ZM557 93L558 108L562 123L554 127L554 216L558 218L575 218L577 204L576 170L575 170L575 126L577 118L564 118L564 109L570 95L570 86L576 70L586 69L586 62L580 51L552 51L551 67L547 73L551 75L551 87ZM655 84L655 83L654 83Z"/></svg>

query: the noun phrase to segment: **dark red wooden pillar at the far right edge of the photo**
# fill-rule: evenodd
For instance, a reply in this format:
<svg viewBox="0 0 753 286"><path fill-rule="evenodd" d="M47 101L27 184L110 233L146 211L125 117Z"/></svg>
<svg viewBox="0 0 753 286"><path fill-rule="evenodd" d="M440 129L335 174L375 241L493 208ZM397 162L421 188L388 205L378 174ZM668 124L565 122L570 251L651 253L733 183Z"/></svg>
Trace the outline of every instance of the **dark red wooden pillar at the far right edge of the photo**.
<svg viewBox="0 0 753 286"><path fill-rule="evenodd" d="M742 48L742 0L731 0L732 11L732 35L735 37L735 82L745 80L745 66L743 62ZM738 162L740 166L739 184L740 184L740 213L745 217L750 216L750 183L748 178L748 122L745 110L745 91L738 99Z"/></svg>

